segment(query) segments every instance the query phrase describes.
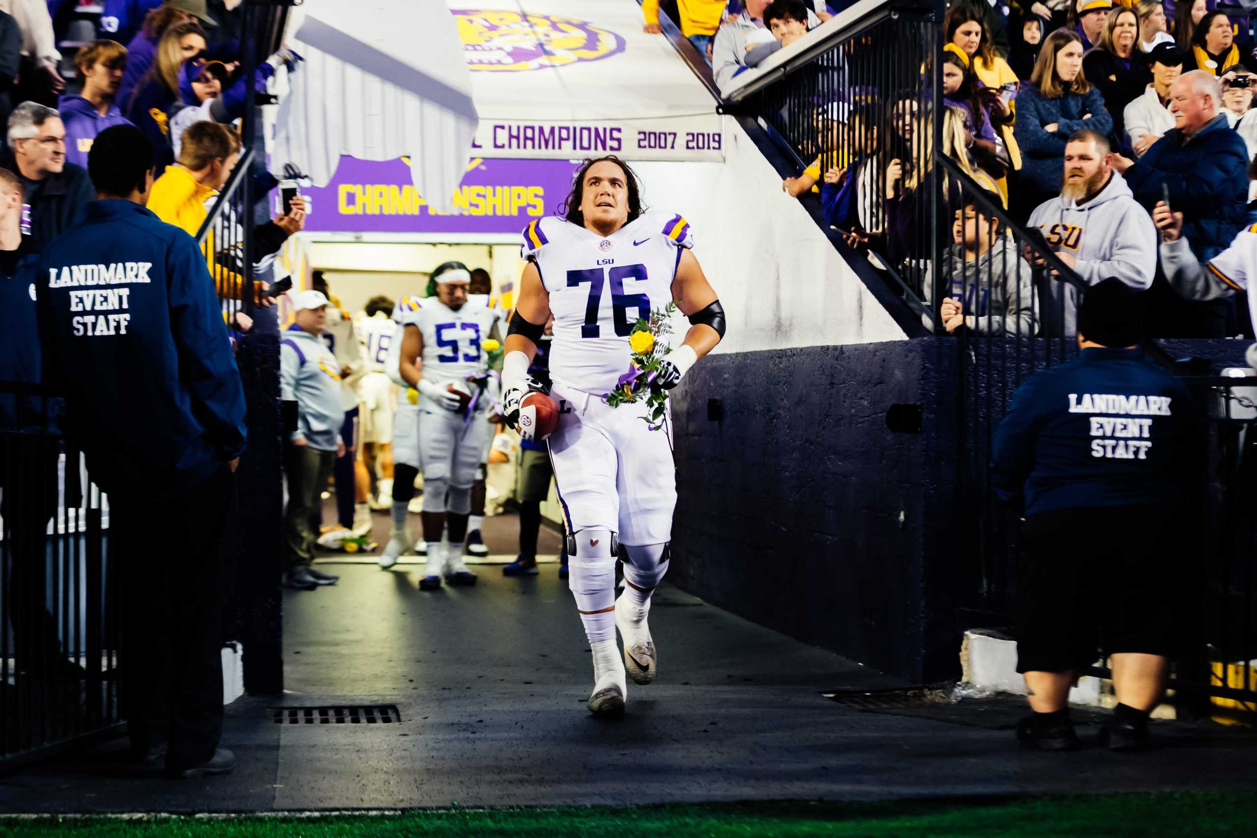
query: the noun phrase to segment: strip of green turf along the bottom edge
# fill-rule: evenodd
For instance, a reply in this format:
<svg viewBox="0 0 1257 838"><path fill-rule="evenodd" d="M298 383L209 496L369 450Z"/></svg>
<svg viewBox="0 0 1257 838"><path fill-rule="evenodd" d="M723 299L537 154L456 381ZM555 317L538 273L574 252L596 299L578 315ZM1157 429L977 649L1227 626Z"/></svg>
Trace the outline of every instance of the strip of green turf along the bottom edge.
<svg viewBox="0 0 1257 838"><path fill-rule="evenodd" d="M401 815L0 819L13 838L1022 838L1257 835L1257 794L1165 793L1065 798L743 803L641 808L437 809Z"/></svg>

